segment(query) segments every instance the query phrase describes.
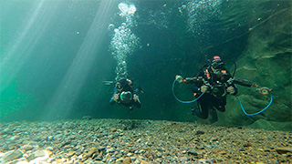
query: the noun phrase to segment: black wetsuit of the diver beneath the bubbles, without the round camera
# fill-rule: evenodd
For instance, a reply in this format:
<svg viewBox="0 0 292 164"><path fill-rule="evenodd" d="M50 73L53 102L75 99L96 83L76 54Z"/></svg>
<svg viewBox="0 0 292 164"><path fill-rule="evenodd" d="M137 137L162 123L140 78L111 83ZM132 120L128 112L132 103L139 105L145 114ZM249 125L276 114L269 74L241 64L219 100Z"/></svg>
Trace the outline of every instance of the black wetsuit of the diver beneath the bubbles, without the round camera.
<svg viewBox="0 0 292 164"><path fill-rule="evenodd" d="M122 87L122 90L120 90L120 92L118 91L117 87L114 88L114 93L113 93L113 96L110 98L110 104L111 105L114 105L116 101L113 100L113 97L115 94L119 94L119 99L117 100L117 102L122 105L122 106L125 106L125 107L130 107L130 108L133 108L133 107L136 107L136 108L141 108L141 102L140 102L140 99L138 98L137 101L135 101L133 99L133 95L136 94L138 96L138 91L137 90L134 90L133 89L133 86L131 84L129 84L129 81L127 79L120 79L120 87ZM124 102L120 99L120 93L121 92L127 92L127 91L130 91L130 93L132 94L132 97L130 99L129 102Z"/></svg>

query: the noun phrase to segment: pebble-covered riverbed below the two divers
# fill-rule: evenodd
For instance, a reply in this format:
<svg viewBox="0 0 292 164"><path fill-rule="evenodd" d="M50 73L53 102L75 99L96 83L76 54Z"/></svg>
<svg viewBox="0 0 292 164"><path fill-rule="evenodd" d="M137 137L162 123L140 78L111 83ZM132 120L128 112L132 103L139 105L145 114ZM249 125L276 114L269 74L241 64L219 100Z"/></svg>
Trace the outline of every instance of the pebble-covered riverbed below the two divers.
<svg viewBox="0 0 292 164"><path fill-rule="evenodd" d="M292 163L292 134L189 122L0 123L0 163Z"/></svg>

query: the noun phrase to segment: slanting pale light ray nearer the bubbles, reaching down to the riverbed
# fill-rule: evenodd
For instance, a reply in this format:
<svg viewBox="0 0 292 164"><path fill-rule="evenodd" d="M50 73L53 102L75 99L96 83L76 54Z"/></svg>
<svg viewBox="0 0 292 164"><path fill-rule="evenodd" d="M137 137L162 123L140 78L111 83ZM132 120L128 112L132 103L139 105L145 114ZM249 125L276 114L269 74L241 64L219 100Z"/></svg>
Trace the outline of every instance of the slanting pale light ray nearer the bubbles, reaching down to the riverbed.
<svg viewBox="0 0 292 164"><path fill-rule="evenodd" d="M107 30L107 21L110 20L110 5L112 1L101 1L99 9L95 15L87 36L81 44L77 55L68 68L67 74L63 77L57 87L57 91L51 98L46 107L46 112L43 118L58 118L58 114L62 117L68 116L74 101L80 93L81 87L89 75L89 69L93 66L96 53L99 52L99 46L104 39L104 31ZM97 29L97 27L105 26L104 29ZM62 118L60 117L60 118ZM42 118L42 120L43 120Z"/></svg>

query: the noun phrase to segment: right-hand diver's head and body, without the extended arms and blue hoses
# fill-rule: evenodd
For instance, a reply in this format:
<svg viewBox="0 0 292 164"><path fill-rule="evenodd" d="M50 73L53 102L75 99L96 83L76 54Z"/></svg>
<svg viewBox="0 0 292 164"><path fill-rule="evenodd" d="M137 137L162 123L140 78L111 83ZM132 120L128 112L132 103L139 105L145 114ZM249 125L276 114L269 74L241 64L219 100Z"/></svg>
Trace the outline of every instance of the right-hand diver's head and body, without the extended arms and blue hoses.
<svg viewBox="0 0 292 164"><path fill-rule="evenodd" d="M214 56L212 63L209 66L203 67L194 77L193 93L198 97L198 108L193 108L193 114L197 117L206 119L209 115L212 116L212 122L218 120L216 110L225 111L226 97L228 94L236 95L237 87L233 83L232 76L224 67L224 62L219 56Z"/></svg>

